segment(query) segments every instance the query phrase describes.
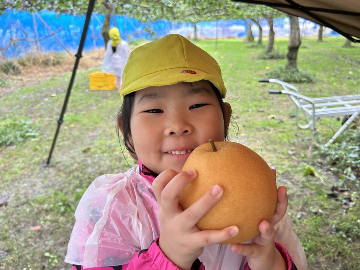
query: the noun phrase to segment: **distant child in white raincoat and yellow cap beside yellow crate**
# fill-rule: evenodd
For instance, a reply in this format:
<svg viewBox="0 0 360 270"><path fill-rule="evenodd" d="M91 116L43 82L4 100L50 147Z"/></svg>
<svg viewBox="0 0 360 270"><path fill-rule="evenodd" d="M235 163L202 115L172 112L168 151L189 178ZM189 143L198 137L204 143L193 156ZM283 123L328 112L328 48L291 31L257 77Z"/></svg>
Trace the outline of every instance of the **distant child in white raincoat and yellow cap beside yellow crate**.
<svg viewBox="0 0 360 270"><path fill-rule="evenodd" d="M121 40L120 32L116 27L109 30L110 40L106 46L102 71L113 73L116 76L117 93L120 93L122 71L130 54L129 44Z"/></svg>

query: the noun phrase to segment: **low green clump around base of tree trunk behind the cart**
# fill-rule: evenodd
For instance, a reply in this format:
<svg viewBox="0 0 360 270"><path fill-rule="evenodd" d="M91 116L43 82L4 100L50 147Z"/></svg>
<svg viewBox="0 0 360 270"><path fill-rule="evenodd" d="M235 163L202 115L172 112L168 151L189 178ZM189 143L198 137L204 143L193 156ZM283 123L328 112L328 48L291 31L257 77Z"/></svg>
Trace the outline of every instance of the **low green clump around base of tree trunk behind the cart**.
<svg viewBox="0 0 360 270"><path fill-rule="evenodd" d="M309 71L303 69L291 69L284 66L274 67L267 72L269 78L275 78L284 82L314 82L315 77Z"/></svg>

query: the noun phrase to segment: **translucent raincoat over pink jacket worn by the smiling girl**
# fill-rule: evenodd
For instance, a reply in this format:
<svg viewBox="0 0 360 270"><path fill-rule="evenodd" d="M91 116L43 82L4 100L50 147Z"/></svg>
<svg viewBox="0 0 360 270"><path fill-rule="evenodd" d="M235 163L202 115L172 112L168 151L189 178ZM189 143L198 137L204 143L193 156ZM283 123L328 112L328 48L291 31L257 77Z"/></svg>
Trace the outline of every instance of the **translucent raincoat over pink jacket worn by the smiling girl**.
<svg viewBox="0 0 360 270"><path fill-rule="evenodd" d="M139 166L118 175L95 179L82 196L65 261L73 270L179 270L158 246L158 208L152 192L154 176ZM121 211L119 211L121 209ZM305 253L291 229L291 219L279 222L276 248L288 269L306 269ZM295 264L298 268L296 268ZM214 244L193 264L196 270L249 269L246 257Z"/></svg>

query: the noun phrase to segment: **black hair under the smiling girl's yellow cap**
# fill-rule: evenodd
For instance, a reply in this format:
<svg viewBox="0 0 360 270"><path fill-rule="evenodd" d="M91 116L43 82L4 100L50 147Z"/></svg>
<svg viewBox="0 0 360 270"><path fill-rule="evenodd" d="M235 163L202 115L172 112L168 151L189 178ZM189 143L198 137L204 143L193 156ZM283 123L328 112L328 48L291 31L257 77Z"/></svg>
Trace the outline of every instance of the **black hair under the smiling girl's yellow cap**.
<svg viewBox="0 0 360 270"><path fill-rule="evenodd" d="M183 82L183 83L191 84L191 82ZM220 91L211 82L210 82L210 84L216 94L216 98L219 100L219 103L220 103L222 116L224 118L224 127L225 127L224 140L226 141L226 140L228 140L228 130L226 128L226 123L229 120L226 119L225 104L221 98ZM123 128L123 143L125 144L125 147L129 152L136 154L135 150L134 150L134 145L132 145L131 129L130 129L130 120L131 120L131 114L132 114L132 107L134 106L134 99L135 99L135 92L125 95L117 116L121 115L122 128ZM118 117L117 117L117 119L118 119ZM117 131L117 136L120 141L121 139L120 139L119 125L118 125L117 121L116 121L116 131Z"/></svg>

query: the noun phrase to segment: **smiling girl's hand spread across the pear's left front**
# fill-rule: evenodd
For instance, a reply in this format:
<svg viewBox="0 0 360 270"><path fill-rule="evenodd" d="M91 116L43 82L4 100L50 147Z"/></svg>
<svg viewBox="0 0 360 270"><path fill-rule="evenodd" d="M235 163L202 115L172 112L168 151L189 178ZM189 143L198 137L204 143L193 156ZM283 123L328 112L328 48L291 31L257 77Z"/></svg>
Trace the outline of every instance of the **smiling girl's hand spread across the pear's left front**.
<svg viewBox="0 0 360 270"><path fill-rule="evenodd" d="M203 252L204 246L226 241L239 232L237 226L200 231L195 225L220 201L223 190L219 185L213 186L185 211L181 209L178 196L195 178L195 170L166 170L153 182L159 206L159 247L180 269L191 269L193 262Z"/></svg>

